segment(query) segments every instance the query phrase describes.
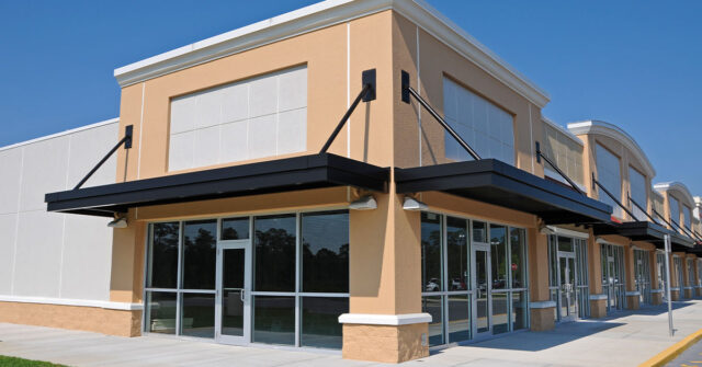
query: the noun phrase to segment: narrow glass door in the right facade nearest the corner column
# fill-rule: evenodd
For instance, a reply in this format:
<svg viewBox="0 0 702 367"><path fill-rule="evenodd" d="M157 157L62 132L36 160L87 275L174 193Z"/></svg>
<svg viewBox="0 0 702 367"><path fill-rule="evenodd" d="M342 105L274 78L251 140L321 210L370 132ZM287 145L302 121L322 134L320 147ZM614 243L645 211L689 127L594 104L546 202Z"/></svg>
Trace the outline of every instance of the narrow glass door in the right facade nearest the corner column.
<svg viewBox="0 0 702 367"><path fill-rule="evenodd" d="M491 312L491 282L490 282L490 246L488 244L474 243L473 259L475 271L475 307L473 308L474 323L473 335L475 339L492 334Z"/></svg>

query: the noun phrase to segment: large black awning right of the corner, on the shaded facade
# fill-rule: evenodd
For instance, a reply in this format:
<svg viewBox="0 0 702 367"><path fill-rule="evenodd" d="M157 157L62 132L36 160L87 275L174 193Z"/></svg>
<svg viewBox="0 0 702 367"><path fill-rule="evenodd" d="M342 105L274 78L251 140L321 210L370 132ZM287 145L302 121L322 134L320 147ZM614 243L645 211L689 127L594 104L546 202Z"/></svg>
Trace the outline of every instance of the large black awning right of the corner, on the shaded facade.
<svg viewBox="0 0 702 367"><path fill-rule="evenodd" d="M612 207L495 159L396 169L398 193L444 192L531 213L547 225L611 221Z"/></svg>

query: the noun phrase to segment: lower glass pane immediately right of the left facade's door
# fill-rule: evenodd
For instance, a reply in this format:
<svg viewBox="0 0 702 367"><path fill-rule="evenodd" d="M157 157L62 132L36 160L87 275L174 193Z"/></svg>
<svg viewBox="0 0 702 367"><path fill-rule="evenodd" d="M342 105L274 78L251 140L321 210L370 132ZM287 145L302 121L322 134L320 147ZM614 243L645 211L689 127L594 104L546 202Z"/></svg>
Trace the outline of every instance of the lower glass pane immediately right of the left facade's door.
<svg viewBox="0 0 702 367"><path fill-rule="evenodd" d="M295 298L253 297L253 342L295 344Z"/></svg>

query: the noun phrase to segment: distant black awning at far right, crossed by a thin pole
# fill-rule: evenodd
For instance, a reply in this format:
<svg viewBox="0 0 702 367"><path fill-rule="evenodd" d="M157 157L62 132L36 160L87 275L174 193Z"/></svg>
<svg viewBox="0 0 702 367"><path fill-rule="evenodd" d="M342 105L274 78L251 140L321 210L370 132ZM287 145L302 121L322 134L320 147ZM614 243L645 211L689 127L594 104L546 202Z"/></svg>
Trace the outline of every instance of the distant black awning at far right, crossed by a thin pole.
<svg viewBox="0 0 702 367"><path fill-rule="evenodd" d="M665 236L670 234L672 251L697 251L694 240L673 232L652 221L627 221L623 223L599 223L592 226L595 236L618 234L632 241L653 243L658 249L665 249Z"/></svg>

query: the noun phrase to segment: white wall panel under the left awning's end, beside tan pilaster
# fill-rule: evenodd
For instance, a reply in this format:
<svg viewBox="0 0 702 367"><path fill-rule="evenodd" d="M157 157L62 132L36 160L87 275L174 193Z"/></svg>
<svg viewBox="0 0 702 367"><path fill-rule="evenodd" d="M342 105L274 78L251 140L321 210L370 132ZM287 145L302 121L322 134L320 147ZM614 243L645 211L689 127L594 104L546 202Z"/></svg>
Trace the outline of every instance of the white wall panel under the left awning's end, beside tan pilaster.
<svg viewBox="0 0 702 367"><path fill-rule="evenodd" d="M113 230L107 227L109 221L109 218L66 216L61 298L110 299Z"/></svg>

